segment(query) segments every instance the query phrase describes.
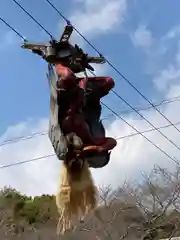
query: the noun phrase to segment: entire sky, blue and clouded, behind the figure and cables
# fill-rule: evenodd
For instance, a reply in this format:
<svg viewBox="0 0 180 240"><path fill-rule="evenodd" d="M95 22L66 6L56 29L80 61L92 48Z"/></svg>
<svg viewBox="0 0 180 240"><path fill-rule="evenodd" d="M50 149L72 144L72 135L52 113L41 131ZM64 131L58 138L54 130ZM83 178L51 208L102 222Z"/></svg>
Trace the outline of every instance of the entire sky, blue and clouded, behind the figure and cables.
<svg viewBox="0 0 180 240"><path fill-rule="evenodd" d="M58 37L65 22L45 0L19 0L54 37ZM52 0L83 34L104 54L145 96L160 101L180 96L180 17L179 0ZM3 0L0 16L29 41L49 41L49 36L24 14L12 0ZM0 141L14 136L47 130L49 116L49 89L46 79L47 64L38 56L21 49L21 39L0 22ZM88 53L94 51L77 35L79 43ZM129 85L121 80L107 64L96 67L99 75L110 75L115 80L115 91L135 107L147 106ZM112 93L103 99L113 110L129 109ZM176 101L160 110L173 122L180 122L180 102ZM107 109L103 116L111 114ZM168 124L155 110L143 112L155 126ZM123 117L140 131L151 128L134 113ZM134 133L121 120L105 121L108 136ZM162 130L178 146L180 134L173 127ZM172 156L180 159L179 151L157 132L146 134L150 140ZM23 161L52 153L47 136L0 147L0 164ZM137 176L149 171L153 164L172 167L172 161L157 151L141 136L118 142L107 167L93 171L98 184L121 182L124 177ZM13 185L28 194L52 193L56 186L59 162L50 164L33 162L17 168L3 169L0 187ZM43 171L42 171L43 169ZM111 178L107 175L113 172ZM20 173L23 174L20 176ZM32 174L33 173L33 174ZM46 179L49 174L48 179ZM22 181L23 179L23 181ZM43 180L42 180L43 179ZM45 180L46 179L46 180ZM110 181L111 180L111 181ZM44 184L44 181L46 183ZM116 184L117 185L117 184ZM36 189L34 186L38 186Z"/></svg>

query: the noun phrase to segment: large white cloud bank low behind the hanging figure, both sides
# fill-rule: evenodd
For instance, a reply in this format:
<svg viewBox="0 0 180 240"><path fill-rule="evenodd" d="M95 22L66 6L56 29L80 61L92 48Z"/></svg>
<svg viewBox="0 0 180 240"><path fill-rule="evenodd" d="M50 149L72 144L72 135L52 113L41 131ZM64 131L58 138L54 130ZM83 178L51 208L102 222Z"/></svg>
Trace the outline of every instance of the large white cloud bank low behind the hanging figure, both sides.
<svg viewBox="0 0 180 240"><path fill-rule="evenodd" d="M180 94L180 85L172 86L168 94ZM177 122L180 121L178 114L176 114L179 108L179 102L175 102L166 105L163 112L172 122ZM162 121L162 117L152 109L146 113L146 116L156 126L165 124L165 121ZM131 115L127 115L126 120L140 131L148 128L144 121L133 120ZM36 123L35 121L28 121L11 126L2 135L1 141L15 136L44 131L47 125L48 121L46 119L40 119ZM107 129L107 134L115 137L132 132L134 131L130 127L118 119ZM179 145L180 134L173 127L164 129L163 133ZM146 136L171 156L174 155L180 159L180 152L159 133L151 132L146 134ZM51 153L53 151L47 136L39 136L31 140L0 147L0 164L15 163ZM136 136L120 140L118 146L112 152L110 164L102 169L93 169L92 172L98 185L112 184L117 186L124 179L137 178L140 172L149 171L154 163L169 169L173 167L173 163L168 157L159 152L143 137ZM60 162L55 157L0 169L0 187L11 185L24 193L32 195L55 193L58 187L59 170Z"/></svg>

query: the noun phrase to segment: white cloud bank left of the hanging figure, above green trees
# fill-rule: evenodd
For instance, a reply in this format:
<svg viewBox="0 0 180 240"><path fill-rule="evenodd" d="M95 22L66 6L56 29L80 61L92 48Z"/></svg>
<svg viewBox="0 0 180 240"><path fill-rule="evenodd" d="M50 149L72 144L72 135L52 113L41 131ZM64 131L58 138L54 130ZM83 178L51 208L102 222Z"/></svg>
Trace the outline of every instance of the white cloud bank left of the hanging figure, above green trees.
<svg viewBox="0 0 180 240"><path fill-rule="evenodd" d="M47 130L48 121L40 119L36 124L27 121L11 126L0 138L1 141L19 136L26 136L34 132ZM22 160L38 158L53 153L47 136L39 136L28 141L17 142L0 147L0 166ZM58 180L59 161L49 158L2 169L0 187L11 185L27 194L41 194L48 191L53 193ZM41 180L40 180L41 179Z"/></svg>

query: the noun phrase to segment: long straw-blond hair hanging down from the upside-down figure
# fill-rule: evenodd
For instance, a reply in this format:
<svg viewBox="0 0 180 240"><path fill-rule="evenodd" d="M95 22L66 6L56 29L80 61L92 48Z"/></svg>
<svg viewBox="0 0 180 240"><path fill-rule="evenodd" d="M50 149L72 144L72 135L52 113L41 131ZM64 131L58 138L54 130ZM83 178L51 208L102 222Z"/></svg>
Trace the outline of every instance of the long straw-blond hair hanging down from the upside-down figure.
<svg viewBox="0 0 180 240"><path fill-rule="evenodd" d="M63 162L56 205L60 214L58 235L73 229L86 214L96 208L97 190L87 162L78 170L73 167L73 159L69 164Z"/></svg>

